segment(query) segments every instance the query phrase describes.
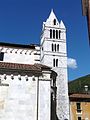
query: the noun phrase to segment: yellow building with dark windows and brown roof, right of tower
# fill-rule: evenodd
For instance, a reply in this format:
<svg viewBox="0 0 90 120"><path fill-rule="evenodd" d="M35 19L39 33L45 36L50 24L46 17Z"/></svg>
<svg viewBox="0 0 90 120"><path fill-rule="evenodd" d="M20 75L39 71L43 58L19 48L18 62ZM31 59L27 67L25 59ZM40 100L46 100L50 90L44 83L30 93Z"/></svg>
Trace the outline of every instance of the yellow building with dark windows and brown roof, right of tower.
<svg viewBox="0 0 90 120"><path fill-rule="evenodd" d="M70 120L90 120L90 94L70 94Z"/></svg>

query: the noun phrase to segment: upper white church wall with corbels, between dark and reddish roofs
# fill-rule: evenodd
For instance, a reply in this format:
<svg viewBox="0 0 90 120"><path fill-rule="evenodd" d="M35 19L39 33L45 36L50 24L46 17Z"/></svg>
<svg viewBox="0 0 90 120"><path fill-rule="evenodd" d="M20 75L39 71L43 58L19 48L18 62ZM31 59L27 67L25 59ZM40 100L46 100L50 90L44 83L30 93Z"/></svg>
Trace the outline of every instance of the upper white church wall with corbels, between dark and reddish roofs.
<svg viewBox="0 0 90 120"><path fill-rule="evenodd" d="M0 51L4 52L3 62L34 64L40 63L40 47L35 49L0 47Z"/></svg>

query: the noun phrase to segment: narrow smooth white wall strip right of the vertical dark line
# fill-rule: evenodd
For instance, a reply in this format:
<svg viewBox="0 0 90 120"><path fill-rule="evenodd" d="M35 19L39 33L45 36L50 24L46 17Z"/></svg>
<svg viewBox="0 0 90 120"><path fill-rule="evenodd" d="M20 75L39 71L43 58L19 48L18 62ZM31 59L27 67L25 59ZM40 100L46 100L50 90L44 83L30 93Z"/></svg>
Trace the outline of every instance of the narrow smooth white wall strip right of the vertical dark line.
<svg viewBox="0 0 90 120"><path fill-rule="evenodd" d="M39 120L51 120L51 89L50 81L39 81Z"/></svg>

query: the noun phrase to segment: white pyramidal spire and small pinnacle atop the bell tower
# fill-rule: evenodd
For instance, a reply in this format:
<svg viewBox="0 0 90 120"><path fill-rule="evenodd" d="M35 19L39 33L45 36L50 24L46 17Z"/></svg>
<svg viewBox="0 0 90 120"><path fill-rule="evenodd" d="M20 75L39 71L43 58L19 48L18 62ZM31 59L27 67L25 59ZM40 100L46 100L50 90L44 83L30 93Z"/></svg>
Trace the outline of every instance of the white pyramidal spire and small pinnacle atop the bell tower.
<svg viewBox="0 0 90 120"><path fill-rule="evenodd" d="M54 20L56 21L55 24L54 24ZM55 15L53 9L51 10L51 13L50 13L49 17L48 17L48 19L46 20L46 22L44 22L44 24L45 24L46 26L50 26L50 27L53 27L53 26L54 26L54 27L65 28L65 25L64 25L63 21L61 21L61 22L59 23L59 21L58 21L56 15Z"/></svg>

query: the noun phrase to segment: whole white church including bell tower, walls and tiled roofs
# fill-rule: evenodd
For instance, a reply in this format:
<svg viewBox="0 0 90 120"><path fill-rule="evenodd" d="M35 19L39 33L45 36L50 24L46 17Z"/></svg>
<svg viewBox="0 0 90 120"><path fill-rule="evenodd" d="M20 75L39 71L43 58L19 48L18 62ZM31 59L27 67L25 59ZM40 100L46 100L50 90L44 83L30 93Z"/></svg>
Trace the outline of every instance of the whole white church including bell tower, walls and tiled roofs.
<svg viewBox="0 0 90 120"><path fill-rule="evenodd" d="M66 27L53 10L40 38L0 42L0 120L70 120Z"/></svg>

